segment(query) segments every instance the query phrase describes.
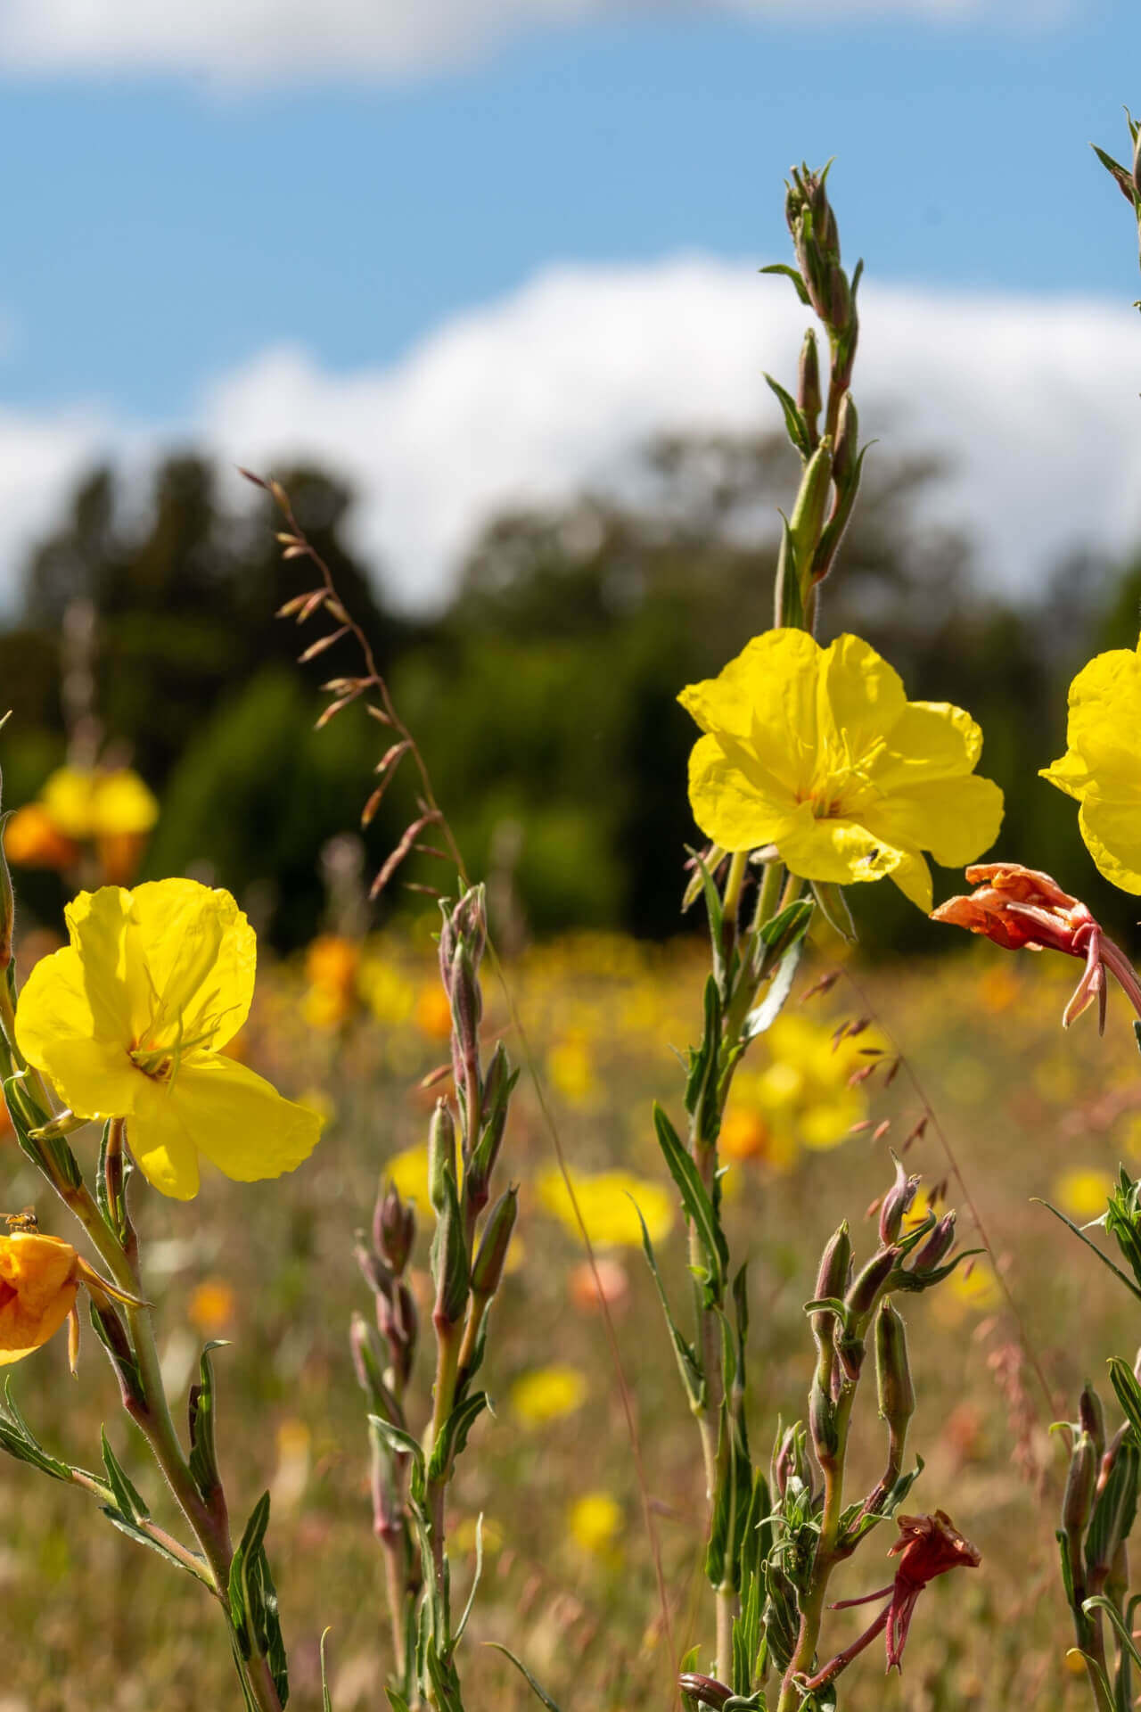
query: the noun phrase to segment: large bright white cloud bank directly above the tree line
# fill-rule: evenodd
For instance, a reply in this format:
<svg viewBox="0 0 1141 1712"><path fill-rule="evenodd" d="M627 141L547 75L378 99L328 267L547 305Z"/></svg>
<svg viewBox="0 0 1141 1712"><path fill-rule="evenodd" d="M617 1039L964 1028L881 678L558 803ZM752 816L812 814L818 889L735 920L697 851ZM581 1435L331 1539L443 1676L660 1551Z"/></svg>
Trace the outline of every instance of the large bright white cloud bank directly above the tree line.
<svg viewBox="0 0 1141 1712"><path fill-rule="evenodd" d="M929 515L1032 589L1076 544L1141 539L1141 324L1091 300L866 286L857 397L883 455L944 452ZM233 464L320 461L361 493L358 544L409 604L450 587L472 534L513 503L614 481L662 428L778 426L807 315L782 279L676 259L558 267L445 324L388 366L330 373L270 349L204 389L186 438ZM0 567L14 567L98 449L132 469L169 435L72 416L0 416ZM872 454L876 455L876 454ZM243 488L233 478L234 503ZM9 568L2 584L12 582Z"/></svg>

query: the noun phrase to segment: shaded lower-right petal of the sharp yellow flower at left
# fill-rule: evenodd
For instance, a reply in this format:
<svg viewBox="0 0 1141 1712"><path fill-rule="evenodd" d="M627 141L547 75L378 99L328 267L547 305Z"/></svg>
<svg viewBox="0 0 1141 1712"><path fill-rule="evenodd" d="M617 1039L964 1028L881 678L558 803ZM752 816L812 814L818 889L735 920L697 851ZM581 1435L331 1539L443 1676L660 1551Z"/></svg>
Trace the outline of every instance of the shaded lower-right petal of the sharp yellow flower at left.
<svg viewBox="0 0 1141 1712"><path fill-rule="evenodd" d="M322 1133L322 1120L308 1106L284 1099L253 1070L216 1055L181 1065L169 1104L198 1152L238 1183L293 1171Z"/></svg>

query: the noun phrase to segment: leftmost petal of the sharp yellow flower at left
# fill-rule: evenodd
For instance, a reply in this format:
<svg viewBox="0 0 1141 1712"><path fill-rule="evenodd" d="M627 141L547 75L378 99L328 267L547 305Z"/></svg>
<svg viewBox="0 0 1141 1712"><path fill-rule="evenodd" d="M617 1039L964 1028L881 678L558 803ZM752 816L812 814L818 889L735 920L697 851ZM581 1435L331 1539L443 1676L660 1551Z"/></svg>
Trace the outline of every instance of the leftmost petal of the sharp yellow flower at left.
<svg viewBox="0 0 1141 1712"><path fill-rule="evenodd" d="M139 1084L123 1039L98 1027L84 964L72 947L43 957L15 1012L15 1041L80 1118L127 1116Z"/></svg>

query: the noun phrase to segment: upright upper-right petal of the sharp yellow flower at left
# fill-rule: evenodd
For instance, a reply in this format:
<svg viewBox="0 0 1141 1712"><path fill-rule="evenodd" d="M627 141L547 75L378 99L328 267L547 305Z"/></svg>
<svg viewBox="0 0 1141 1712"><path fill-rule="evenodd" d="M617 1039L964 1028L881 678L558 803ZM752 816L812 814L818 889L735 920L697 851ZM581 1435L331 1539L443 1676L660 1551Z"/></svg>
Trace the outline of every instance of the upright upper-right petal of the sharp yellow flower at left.
<svg viewBox="0 0 1141 1712"><path fill-rule="evenodd" d="M147 1044L217 1049L250 1014L257 938L229 892L156 880L130 897L127 981L132 1012L151 1014Z"/></svg>

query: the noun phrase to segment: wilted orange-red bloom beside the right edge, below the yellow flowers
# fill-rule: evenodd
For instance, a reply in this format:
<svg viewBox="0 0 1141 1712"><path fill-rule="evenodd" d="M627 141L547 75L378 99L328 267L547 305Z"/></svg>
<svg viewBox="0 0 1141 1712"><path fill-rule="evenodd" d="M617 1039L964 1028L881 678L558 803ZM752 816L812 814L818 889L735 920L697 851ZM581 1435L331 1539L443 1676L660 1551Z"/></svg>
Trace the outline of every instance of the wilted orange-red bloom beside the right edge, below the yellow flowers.
<svg viewBox="0 0 1141 1712"><path fill-rule="evenodd" d="M1090 909L1062 892L1057 880L1020 863L982 863L967 870L970 895L949 897L932 911L932 921L949 921L982 933L1004 950L1052 950L1081 957L1085 969L1062 1012L1067 1029L1095 1000L1098 1029L1105 1032L1105 974L1114 976L1141 1017L1141 981L1119 945L1105 936Z"/></svg>

